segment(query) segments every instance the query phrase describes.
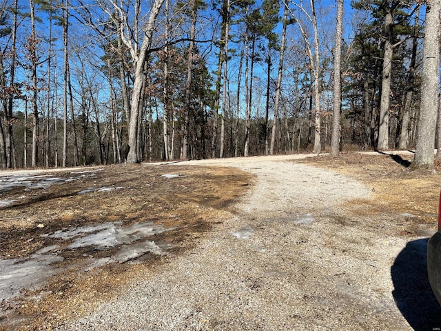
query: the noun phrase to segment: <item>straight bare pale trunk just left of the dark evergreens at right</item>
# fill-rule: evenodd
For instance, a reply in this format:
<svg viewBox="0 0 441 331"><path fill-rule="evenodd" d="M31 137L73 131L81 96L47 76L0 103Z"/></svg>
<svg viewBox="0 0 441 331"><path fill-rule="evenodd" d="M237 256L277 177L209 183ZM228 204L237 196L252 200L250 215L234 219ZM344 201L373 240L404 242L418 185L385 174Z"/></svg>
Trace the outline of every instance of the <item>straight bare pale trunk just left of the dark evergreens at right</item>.
<svg viewBox="0 0 441 331"><path fill-rule="evenodd" d="M342 101L341 56L343 30L343 2L338 0L336 42L334 43L334 116L332 117L331 155L336 157L340 152L340 109Z"/></svg>

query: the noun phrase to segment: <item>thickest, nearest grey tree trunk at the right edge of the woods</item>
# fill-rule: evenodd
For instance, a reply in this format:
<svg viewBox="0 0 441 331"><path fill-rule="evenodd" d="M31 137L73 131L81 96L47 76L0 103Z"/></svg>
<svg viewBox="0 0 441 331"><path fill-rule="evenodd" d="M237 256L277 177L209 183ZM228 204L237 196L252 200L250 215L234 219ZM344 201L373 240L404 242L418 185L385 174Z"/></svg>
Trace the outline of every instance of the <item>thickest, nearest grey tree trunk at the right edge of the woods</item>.
<svg viewBox="0 0 441 331"><path fill-rule="evenodd" d="M427 2L422 54L422 82L418 137L413 168L433 168L435 127L438 115L441 0Z"/></svg>

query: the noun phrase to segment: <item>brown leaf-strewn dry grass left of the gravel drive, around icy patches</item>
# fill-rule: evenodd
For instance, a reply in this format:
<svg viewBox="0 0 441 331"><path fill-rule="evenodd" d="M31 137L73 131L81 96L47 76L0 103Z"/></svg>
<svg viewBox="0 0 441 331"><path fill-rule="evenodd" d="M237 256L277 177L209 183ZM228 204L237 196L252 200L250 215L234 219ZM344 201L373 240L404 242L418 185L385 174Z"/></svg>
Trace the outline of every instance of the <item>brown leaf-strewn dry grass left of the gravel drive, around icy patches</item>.
<svg viewBox="0 0 441 331"><path fill-rule="evenodd" d="M125 225L153 221L165 228L176 228L156 234L154 241L172 243L171 255L180 254L194 247L214 223L227 217L227 211L234 212L232 203L252 181L249 174L232 168L114 165L102 169L94 177L52 185L45 190L25 192L24 188L15 188L3 194L1 199L18 202L1 210L0 258L25 258L43 247L69 243L41 234L113 221L123 221ZM180 177L167 179L162 174ZM50 176L72 175L59 172ZM101 187L121 189L78 194L87 188ZM19 199L23 194L26 197ZM43 228L38 227L41 224ZM114 251L88 246L61 250L59 254L64 258L60 266L75 263L76 268L52 277L38 291L25 292L20 298L22 302L1 303L0 310L16 310L9 320L26 318L20 329L50 330L58 319L79 317L112 297L124 283L152 274L170 259L145 254L143 263L112 263L101 270L79 272L89 256L110 257Z"/></svg>

